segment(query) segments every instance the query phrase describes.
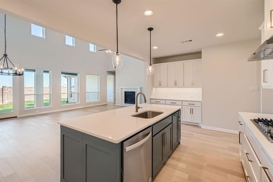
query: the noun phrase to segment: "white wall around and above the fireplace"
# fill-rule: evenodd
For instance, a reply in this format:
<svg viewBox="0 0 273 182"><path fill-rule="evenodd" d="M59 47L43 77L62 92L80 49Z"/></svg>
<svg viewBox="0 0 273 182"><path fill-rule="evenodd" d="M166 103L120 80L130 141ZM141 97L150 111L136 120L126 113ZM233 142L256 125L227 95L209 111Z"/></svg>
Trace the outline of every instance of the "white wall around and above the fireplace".
<svg viewBox="0 0 273 182"><path fill-rule="evenodd" d="M108 69L111 69L112 54L108 54ZM122 55L123 65L122 69L116 69L116 88L115 98L116 105L120 105L120 87L144 87L144 65L145 62L135 59L129 56ZM143 90L140 90L143 91ZM145 93L146 94L146 93ZM142 96L140 96L140 102L143 102Z"/></svg>

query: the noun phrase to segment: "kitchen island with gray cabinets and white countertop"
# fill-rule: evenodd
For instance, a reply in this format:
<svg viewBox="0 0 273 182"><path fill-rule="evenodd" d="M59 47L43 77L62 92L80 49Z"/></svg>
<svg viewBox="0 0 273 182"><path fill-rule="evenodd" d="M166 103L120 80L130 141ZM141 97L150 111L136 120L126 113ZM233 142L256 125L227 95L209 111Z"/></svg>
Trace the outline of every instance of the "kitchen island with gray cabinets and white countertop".
<svg viewBox="0 0 273 182"><path fill-rule="evenodd" d="M143 108L138 113L161 113L150 119L135 117L138 114L135 106L129 106L58 121L61 125L61 181L122 181L126 173L123 165L130 163L123 159L123 142L147 128L152 138L151 153L147 154L151 157L147 163L151 163L149 172L155 176L180 143L181 106L139 106ZM138 173L135 171L136 175Z"/></svg>

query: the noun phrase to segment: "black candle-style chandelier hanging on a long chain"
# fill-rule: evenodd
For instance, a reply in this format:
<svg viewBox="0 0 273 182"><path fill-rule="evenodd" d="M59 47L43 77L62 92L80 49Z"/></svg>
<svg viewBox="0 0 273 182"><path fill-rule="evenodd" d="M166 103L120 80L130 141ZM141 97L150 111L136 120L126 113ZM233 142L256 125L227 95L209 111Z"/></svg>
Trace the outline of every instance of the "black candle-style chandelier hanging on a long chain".
<svg viewBox="0 0 273 182"><path fill-rule="evenodd" d="M4 58L3 66L0 66L0 75L14 75L14 76L22 76L24 75L24 70L22 69L22 72L20 72L20 69L17 69L14 64L11 62L11 60L8 59L8 55L6 53L7 50L7 41L6 41L6 15L5 15L5 53L4 56L0 59L0 61ZM8 61L12 64L10 67L8 67ZM6 62L6 64L5 64ZM13 68L15 72L13 72ZM5 71L7 70L7 71Z"/></svg>

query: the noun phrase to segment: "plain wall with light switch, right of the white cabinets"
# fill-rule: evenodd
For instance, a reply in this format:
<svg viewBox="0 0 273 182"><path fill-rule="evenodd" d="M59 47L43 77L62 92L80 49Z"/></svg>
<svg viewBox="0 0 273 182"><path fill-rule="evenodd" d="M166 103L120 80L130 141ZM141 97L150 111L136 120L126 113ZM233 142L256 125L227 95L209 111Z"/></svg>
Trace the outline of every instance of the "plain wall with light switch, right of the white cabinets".
<svg viewBox="0 0 273 182"><path fill-rule="evenodd" d="M202 49L202 126L238 130L238 111L260 112L260 62L247 62L260 41ZM260 90L260 88L259 88Z"/></svg>

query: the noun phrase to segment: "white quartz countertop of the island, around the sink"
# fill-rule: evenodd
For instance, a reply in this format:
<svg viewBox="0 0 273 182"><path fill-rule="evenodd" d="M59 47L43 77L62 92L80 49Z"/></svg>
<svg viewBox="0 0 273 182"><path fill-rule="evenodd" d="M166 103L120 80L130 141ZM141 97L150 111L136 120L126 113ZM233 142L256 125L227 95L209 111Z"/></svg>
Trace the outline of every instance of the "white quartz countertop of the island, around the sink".
<svg viewBox="0 0 273 182"><path fill-rule="evenodd" d="M181 109L181 106L165 106L156 104L139 104L138 106L143 107L138 109L138 113L145 110L161 111L164 113L151 119L143 119L131 116L136 114L135 106L129 106L67 120L61 120L57 123L103 140L119 143L122 140L125 140L135 133L165 118L171 113Z"/></svg>

